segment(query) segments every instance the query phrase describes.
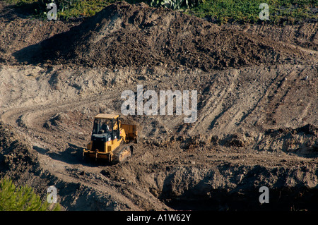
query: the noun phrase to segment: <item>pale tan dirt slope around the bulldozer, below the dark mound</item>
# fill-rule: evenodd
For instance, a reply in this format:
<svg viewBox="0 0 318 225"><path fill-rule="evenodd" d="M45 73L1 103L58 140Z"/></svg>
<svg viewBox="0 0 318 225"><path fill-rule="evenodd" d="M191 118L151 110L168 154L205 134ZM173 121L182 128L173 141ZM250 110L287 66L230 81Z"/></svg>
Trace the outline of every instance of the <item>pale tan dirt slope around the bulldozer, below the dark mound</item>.
<svg viewBox="0 0 318 225"><path fill-rule="evenodd" d="M254 80L264 73L259 67L242 70L237 80L230 82L233 71L213 74L179 71L163 75L162 83L158 83L155 75L169 72L162 68L152 72L133 72L128 68L114 72L102 68L47 70L34 66L28 69L3 66L1 78L6 79L3 87L7 88L2 89L3 93L10 90L17 95L2 99L1 120L17 127L9 128L14 133L27 137L28 151L37 156L35 162L40 165L40 174L49 174L42 178L45 177L47 186L54 184L63 190L59 197L67 209L170 209L158 199L177 208L180 203L174 203L176 197L198 201L212 196L208 199L213 202L214 197L219 196L223 205L206 203L211 209L223 209L226 204L225 209L236 209L237 206L216 193L221 191L224 196L228 193L228 196L236 196L235 199L250 202L244 196L254 196L255 188L262 184L277 191L289 188L285 190L286 196L296 193L295 188L300 189L297 193L310 191L311 194L312 190L307 188L317 185L317 92L314 93L317 78L302 79L307 74L305 71L317 71L317 66L282 65L271 68L271 73L282 69L294 73L285 74L287 80L276 97L271 97L277 90L278 80L283 78L269 77L268 83ZM293 74L298 75L293 77ZM188 81L179 84L172 75ZM183 123L183 116L137 116L134 120L139 123L142 135L134 157L116 166L83 161L81 150L89 141L93 116L100 111L120 111L121 92L136 90L141 76L146 80L142 82L145 88L157 91L178 85L189 89L198 87L204 102L199 106L198 121L187 125ZM112 77L126 82L114 82L111 87L105 85L104 79ZM198 77L201 81L196 80ZM251 80L259 91L252 92L253 87L245 84ZM153 83L158 83L158 87ZM281 92L285 96L283 100L279 97ZM307 104L295 98L297 92L308 93ZM245 103L240 99L246 99ZM249 101L254 102L246 104ZM285 125L287 122L289 126ZM312 125L305 126L308 123ZM6 151L5 148L3 154L7 154ZM5 164L6 174L20 177L20 170L10 165ZM28 182L37 186L35 181ZM282 200L284 209L286 196ZM187 202L185 206L194 209L192 204Z"/></svg>

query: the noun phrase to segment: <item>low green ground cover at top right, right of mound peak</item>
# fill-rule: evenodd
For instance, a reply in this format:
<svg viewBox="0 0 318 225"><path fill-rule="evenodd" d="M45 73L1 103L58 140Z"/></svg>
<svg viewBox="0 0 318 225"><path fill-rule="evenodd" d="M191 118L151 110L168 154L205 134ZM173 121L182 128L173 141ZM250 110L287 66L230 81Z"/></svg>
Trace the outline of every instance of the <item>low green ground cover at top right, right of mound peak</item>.
<svg viewBox="0 0 318 225"><path fill-rule="evenodd" d="M255 23L259 20L259 5L269 5L269 20L278 23L281 20L300 20L302 18L318 18L318 1L316 0L203 0L198 6L191 8L189 13L194 16L212 17L219 22L237 20Z"/></svg>

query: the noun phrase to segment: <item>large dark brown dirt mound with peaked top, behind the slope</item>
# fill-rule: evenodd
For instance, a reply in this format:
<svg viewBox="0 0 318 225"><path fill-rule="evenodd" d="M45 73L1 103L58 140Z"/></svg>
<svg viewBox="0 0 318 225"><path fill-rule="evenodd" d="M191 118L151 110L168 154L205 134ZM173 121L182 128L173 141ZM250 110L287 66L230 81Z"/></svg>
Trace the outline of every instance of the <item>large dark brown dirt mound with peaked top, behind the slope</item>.
<svg viewBox="0 0 318 225"><path fill-rule="evenodd" d="M204 71L279 63L305 54L259 35L146 4L112 4L42 42L41 59L86 66L168 66Z"/></svg>

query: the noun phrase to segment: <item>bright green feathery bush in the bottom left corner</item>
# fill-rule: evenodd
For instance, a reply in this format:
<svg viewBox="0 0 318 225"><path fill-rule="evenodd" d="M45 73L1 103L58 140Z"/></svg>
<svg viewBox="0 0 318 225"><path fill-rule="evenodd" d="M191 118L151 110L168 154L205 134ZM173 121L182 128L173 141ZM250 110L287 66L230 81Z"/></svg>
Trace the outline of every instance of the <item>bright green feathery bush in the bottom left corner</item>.
<svg viewBox="0 0 318 225"><path fill-rule="evenodd" d="M32 188L21 186L17 188L10 178L0 181L0 211L59 211L59 204L49 204L41 201Z"/></svg>

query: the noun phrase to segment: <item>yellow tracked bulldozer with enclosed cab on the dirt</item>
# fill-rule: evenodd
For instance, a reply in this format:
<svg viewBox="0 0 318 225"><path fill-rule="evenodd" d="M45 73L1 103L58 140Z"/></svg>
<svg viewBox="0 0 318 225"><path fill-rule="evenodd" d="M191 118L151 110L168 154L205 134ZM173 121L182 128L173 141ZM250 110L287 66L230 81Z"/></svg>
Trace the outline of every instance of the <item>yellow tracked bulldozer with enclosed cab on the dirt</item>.
<svg viewBox="0 0 318 225"><path fill-rule="evenodd" d="M122 124L117 114L95 116L93 132L83 157L104 159L113 164L124 161L134 151L131 142L137 142L137 126Z"/></svg>

